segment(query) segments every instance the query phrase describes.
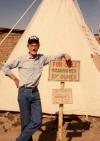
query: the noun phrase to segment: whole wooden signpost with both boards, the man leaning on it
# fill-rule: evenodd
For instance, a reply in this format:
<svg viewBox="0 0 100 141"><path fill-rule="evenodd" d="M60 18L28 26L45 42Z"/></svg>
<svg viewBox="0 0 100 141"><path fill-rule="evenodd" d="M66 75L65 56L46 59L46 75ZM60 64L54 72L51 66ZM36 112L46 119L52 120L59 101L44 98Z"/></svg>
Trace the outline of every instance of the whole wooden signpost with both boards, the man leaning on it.
<svg viewBox="0 0 100 141"><path fill-rule="evenodd" d="M58 136L63 141L63 104L72 104L72 90L64 89L65 81L79 81L80 62L72 61L69 68L65 59L52 60L49 65L49 80L60 81L60 89L53 89L53 103L59 104Z"/></svg>

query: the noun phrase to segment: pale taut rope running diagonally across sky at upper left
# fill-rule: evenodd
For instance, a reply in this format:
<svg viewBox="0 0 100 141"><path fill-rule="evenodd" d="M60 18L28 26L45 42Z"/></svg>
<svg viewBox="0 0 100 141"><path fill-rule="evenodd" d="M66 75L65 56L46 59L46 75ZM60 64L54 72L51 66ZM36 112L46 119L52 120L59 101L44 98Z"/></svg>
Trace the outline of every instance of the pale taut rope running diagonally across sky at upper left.
<svg viewBox="0 0 100 141"><path fill-rule="evenodd" d="M6 38L9 36L9 34L13 31L13 29L16 27L16 25L23 19L23 17L26 15L26 13L31 9L31 7L36 3L37 0L34 0L32 4L26 9L26 11L22 14L22 16L19 18L19 20L16 22L16 24L12 27L12 29L8 32L8 34L1 40L1 44L6 40Z"/></svg>

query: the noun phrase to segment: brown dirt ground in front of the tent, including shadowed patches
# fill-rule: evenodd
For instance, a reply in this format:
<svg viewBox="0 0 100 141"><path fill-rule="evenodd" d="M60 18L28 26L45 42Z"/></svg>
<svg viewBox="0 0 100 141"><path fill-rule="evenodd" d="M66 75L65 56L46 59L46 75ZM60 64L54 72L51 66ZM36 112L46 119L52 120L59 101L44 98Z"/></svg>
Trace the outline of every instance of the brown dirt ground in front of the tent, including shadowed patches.
<svg viewBox="0 0 100 141"><path fill-rule="evenodd" d="M15 141L20 134L19 113L0 113L0 141ZM44 115L41 128L33 135L34 141L59 141L58 117ZM63 141L100 141L100 118L64 116Z"/></svg>

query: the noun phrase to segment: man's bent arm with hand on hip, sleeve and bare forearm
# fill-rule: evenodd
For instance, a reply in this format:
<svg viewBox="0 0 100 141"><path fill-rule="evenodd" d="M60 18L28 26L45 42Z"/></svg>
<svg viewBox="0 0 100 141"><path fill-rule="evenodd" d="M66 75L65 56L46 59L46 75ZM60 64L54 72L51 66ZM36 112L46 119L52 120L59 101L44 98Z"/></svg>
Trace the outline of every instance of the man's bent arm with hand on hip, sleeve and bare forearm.
<svg viewBox="0 0 100 141"><path fill-rule="evenodd" d="M14 61L12 61L10 63L2 64L2 68L1 68L4 75L8 76L10 79L12 79L14 81L17 88L19 85L19 79L11 72L11 69L18 67L19 61L20 61L20 59L18 57L17 59L15 59Z"/></svg>

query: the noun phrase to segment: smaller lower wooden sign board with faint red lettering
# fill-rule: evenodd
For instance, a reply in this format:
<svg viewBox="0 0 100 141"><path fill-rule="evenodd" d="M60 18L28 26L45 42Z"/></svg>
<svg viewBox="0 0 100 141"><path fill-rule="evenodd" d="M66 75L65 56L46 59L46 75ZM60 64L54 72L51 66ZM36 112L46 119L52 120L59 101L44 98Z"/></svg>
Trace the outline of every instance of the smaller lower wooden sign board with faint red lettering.
<svg viewBox="0 0 100 141"><path fill-rule="evenodd" d="M72 89L53 89L53 104L72 104Z"/></svg>

